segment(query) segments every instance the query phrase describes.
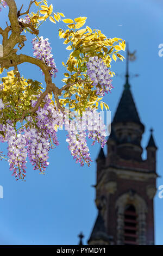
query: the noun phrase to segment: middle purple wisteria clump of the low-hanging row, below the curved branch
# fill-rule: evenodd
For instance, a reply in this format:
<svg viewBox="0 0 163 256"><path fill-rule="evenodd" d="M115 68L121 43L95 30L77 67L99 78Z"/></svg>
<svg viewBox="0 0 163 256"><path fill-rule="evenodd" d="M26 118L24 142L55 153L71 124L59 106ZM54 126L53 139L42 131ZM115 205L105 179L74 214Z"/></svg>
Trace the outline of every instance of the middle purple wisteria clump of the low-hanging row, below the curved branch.
<svg viewBox="0 0 163 256"><path fill-rule="evenodd" d="M57 139L57 127L62 125L62 113L52 105L52 100L48 95L45 97L43 107L39 107L36 111L35 125L31 129L28 127L25 134L28 138L28 157L34 166L34 169L39 169L44 172L48 166L48 151L53 148L53 144L59 145ZM34 107L36 100L32 101ZM32 118L28 117L28 121L32 122ZM52 139L52 140L51 140Z"/></svg>

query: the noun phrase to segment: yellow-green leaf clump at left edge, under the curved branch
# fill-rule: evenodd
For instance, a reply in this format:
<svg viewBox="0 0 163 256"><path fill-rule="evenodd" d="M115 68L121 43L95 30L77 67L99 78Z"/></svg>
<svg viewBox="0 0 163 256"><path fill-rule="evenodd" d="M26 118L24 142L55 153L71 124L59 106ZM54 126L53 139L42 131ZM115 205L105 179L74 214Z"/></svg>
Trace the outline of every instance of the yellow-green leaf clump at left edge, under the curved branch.
<svg viewBox="0 0 163 256"><path fill-rule="evenodd" d="M0 90L0 99L5 105L1 111L0 121L20 119L23 111L32 108L31 101L41 93L41 83L24 77L16 77L17 71L7 72L3 77Z"/></svg>

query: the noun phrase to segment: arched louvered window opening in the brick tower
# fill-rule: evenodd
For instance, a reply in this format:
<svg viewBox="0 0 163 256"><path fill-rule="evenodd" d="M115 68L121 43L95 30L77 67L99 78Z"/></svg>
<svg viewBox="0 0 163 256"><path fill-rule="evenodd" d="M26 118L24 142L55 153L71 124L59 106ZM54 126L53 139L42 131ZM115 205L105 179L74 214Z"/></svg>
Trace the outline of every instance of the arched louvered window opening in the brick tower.
<svg viewBox="0 0 163 256"><path fill-rule="evenodd" d="M137 245L137 215L134 205L124 211L124 245Z"/></svg>

